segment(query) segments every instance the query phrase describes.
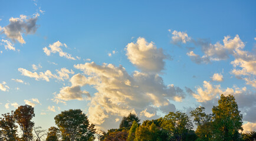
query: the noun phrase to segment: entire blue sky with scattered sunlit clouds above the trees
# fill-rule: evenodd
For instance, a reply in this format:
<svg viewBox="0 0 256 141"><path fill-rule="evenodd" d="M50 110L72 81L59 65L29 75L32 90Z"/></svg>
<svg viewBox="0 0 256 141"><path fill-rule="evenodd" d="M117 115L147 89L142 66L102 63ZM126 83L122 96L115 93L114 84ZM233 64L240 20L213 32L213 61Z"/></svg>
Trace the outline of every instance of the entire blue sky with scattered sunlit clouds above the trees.
<svg viewBox="0 0 256 141"><path fill-rule="evenodd" d="M256 130L255 1L0 1L0 113L35 126L81 109L97 129L234 95Z"/></svg>

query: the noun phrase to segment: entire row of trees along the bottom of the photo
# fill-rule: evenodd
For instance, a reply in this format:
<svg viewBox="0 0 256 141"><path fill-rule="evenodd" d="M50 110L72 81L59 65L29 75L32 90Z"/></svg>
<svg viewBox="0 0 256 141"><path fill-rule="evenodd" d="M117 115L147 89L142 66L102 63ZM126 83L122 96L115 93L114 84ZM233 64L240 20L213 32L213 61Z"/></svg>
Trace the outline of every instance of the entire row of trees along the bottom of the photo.
<svg viewBox="0 0 256 141"><path fill-rule="evenodd" d="M241 133L242 114L232 95L218 100L218 106L212 113L206 114L199 106L192 110L191 116L182 112L169 112L159 119L145 120L130 113L124 116L119 129L107 132L96 130L87 116L80 109L64 110L54 117L55 125L46 130L34 127L32 118L34 108L29 105L19 106L11 113L0 117L0 140L10 141L183 141L183 140L256 140L256 132ZM196 130L193 130L193 123ZM18 135L18 126L21 130Z"/></svg>

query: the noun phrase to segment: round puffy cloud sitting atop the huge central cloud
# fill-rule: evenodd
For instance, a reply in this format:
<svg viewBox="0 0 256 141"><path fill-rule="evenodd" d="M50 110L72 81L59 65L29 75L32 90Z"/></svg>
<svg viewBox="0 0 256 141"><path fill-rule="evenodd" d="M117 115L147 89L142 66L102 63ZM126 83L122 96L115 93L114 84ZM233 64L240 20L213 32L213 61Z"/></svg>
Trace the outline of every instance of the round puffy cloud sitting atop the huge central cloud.
<svg viewBox="0 0 256 141"><path fill-rule="evenodd" d="M128 43L126 55L133 65L144 72L160 72L165 66L163 60L168 59L162 48L156 48L153 42L148 43L145 38L138 38L136 43Z"/></svg>

